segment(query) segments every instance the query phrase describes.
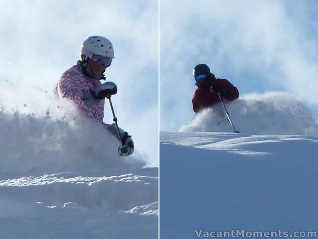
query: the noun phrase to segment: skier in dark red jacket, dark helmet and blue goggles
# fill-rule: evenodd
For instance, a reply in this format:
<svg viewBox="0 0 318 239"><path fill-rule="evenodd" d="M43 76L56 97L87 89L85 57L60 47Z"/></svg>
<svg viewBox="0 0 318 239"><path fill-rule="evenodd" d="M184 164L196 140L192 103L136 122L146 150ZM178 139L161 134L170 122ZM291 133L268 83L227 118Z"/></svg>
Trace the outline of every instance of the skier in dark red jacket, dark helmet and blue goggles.
<svg viewBox="0 0 318 239"><path fill-rule="evenodd" d="M195 85L198 87L192 98L195 113L219 103L218 94L229 101L239 98L238 89L228 80L215 78L206 64L196 65L193 69L193 76L196 81Z"/></svg>

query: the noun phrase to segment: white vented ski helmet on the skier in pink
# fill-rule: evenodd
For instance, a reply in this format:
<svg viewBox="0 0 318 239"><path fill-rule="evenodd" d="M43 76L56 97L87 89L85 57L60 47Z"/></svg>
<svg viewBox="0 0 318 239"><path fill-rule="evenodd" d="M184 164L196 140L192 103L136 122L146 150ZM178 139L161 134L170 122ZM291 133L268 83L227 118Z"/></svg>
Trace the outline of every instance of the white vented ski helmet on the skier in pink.
<svg viewBox="0 0 318 239"><path fill-rule="evenodd" d="M91 58L93 54L115 58L113 45L103 36L89 36L84 40L80 55Z"/></svg>

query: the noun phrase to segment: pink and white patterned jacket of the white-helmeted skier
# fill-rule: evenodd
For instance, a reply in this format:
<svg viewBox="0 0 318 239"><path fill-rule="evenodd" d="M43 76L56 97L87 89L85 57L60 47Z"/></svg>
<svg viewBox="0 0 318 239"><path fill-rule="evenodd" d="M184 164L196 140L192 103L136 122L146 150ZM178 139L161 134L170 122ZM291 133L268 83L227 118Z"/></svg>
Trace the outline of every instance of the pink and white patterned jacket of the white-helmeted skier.
<svg viewBox="0 0 318 239"><path fill-rule="evenodd" d="M87 107L81 99L83 90L94 89L99 85L101 85L99 80L89 78L82 73L80 62L78 61L75 66L63 73L56 85L55 93L60 98L67 98L73 101L88 118L96 119L107 127L109 124L103 123L105 100L101 100L92 107Z"/></svg>

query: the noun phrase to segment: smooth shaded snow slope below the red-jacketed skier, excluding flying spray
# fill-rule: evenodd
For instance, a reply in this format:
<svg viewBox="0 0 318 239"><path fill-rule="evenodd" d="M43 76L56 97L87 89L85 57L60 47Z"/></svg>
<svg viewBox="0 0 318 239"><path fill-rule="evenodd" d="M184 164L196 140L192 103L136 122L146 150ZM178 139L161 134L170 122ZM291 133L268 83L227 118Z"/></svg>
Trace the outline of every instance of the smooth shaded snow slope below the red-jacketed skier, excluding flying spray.
<svg viewBox="0 0 318 239"><path fill-rule="evenodd" d="M161 131L160 237L318 231L317 153L313 136Z"/></svg>

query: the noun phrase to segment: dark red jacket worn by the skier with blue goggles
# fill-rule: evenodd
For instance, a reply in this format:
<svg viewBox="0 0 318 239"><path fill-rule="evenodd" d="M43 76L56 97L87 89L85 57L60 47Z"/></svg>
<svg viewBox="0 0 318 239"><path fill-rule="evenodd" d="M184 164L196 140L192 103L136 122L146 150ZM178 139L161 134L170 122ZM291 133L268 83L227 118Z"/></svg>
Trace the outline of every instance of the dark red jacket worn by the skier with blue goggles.
<svg viewBox="0 0 318 239"><path fill-rule="evenodd" d="M212 73L204 83L196 82L195 85L198 87L192 98L193 111L195 113L220 102L218 94L211 92L212 85L222 89L222 92L225 92L223 98L229 101L234 101L239 98L239 91L234 85L228 80L216 79Z"/></svg>

